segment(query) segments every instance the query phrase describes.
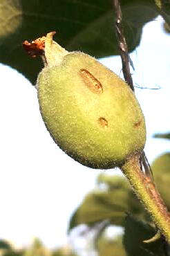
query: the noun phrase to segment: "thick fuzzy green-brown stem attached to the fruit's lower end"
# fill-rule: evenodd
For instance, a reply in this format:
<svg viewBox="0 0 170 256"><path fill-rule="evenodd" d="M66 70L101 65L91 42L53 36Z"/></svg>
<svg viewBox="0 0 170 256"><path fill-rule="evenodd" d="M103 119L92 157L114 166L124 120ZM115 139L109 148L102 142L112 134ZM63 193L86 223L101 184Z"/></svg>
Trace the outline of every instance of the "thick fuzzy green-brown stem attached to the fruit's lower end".
<svg viewBox="0 0 170 256"><path fill-rule="evenodd" d="M151 178L140 169L139 155L129 158L121 167L138 198L150 212L153 221L170 244L170 214Z"/></svg>

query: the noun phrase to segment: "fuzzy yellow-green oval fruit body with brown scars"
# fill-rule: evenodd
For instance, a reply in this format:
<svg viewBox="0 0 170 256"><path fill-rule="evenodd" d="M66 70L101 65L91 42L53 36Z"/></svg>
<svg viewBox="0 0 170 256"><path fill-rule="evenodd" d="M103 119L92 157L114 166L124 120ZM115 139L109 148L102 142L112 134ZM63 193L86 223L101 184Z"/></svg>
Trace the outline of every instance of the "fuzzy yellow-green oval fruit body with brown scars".
<svg viewBox="0 0 170 256"><path fill-rule="evenodd" d="M97 93L80 70L102 84ZM37 80L42 118L55 143L69 156L97 169L122 165L144 148L144 116L135 95L120 77L84 53L64 56L44 68ZM108 122L102 125L101 118Z"/></svg>

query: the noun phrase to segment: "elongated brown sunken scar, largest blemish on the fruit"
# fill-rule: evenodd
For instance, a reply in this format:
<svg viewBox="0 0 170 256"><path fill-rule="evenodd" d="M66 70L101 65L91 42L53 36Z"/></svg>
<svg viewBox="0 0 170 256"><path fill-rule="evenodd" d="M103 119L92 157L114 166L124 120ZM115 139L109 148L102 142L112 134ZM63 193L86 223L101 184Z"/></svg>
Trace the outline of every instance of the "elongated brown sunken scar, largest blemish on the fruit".
<svg viewBox="0 0 170 256"><path fill-rule="evenodd" d="M88 86L90 86L93 90L95 90L96 93L99 93L99 94L103 93L103 86L101 82L94 77L94 75L92 75L86 69L80 69L79 73L82 75L84 80L88 83Z"/></svg>

